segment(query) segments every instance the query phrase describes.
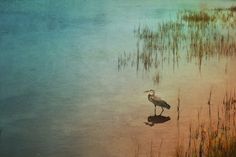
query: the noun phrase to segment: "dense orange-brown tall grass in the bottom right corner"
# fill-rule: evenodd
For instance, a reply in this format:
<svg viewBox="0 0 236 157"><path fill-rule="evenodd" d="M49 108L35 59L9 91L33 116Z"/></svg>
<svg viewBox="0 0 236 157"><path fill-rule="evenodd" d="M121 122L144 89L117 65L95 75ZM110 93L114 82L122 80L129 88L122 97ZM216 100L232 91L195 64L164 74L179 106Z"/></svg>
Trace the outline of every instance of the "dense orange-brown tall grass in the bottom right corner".
<svg viewBox="0 0 236 157"><path fill-rule="evenodd" d="M236 97L230 93L222 103L214 123L190 125L189 144L178 144L176 157L235 157L236 156Z"/></svg>

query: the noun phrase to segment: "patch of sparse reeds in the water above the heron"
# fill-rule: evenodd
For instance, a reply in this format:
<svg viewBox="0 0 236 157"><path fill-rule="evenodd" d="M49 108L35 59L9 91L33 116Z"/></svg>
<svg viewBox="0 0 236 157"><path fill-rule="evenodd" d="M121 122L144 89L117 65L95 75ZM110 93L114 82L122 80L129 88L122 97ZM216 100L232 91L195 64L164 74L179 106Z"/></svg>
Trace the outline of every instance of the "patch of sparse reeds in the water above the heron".
<svg viewBox="0 0 236 157"><path fill-rule="evenodd" d="M136 65L137 71L160 71L159 65L166 62L175 70L179 60L186 58L188 62L197 60L201 71L203 63L213 57L236 55L235 8L184 10L175 20L159 23L155 30L139 26L134 31L137 51L120 55L118 70ZM161 81L153 79L157 80Z"/></svg>

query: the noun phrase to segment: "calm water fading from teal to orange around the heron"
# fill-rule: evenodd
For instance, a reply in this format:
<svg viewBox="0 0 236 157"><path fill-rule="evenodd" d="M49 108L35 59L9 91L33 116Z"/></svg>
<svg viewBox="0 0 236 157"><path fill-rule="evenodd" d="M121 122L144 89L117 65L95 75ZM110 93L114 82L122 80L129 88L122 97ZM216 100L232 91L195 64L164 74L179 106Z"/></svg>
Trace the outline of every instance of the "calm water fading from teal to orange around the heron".
<svg viewBox="0 0 236 157"><path fill-rule="evenodd" d="M178 10L231 6L233 1L4 1L0 8L0 156L140 156L175 152L180 132L207 100L222 102L235 87L236 58L166 63L153 73L117 69L119 54L136 51L134 29L172 18ZM227 72L226 72L227 65ZM155 73L155 71L154 71ZM170 120L145 125L155 89L171 104ZM158 110L159 112L159 110ZM161 150L160 143L162 141ZM152 144L151 144L152 143Z"/></svg>

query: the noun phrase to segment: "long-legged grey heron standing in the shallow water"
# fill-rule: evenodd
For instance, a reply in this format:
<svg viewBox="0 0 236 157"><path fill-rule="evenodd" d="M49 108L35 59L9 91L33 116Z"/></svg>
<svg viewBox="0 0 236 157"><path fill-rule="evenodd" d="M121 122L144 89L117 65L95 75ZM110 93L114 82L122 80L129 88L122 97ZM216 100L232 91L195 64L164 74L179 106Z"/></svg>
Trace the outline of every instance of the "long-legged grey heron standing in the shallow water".
<svg viewBox="0 0 236 157"><path fill-rule="evenodd" d="M156 106L159 106L162 109L162 111L159 115L161 115L163 113L164 108L170 109L170 105L167 102L165 102L164 100L162 100L160 97L156 96L155 91L153 89L147 90L147 91L145 91L145 93L148 93L148 100L150 102L152 102L155 107L155 109L154 109L155 115L156 115Z"/></svg>

